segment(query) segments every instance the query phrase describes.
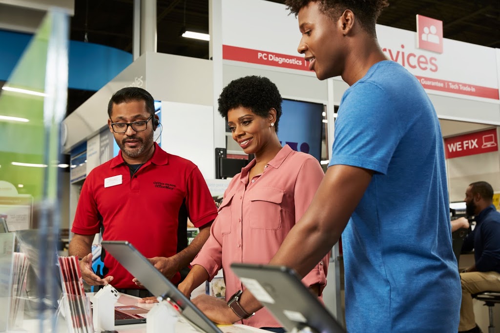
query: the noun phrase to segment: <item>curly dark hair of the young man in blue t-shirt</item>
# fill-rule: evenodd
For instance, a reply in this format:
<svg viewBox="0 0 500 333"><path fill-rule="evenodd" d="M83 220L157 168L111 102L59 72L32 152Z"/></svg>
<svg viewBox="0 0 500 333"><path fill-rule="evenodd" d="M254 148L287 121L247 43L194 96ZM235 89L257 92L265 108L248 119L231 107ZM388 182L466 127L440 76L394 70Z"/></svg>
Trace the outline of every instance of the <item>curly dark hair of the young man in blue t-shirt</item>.
<svg viewBox="0 0 500 333"><path fill-rule="evenodd" d="M350 9L359 19L361 26L372 36L376 36L375 23L383 8L389 5L387 0L285 0L286 9L297 16L298 11L309 2L317 2L319 10L333 20Z"/></svg>

